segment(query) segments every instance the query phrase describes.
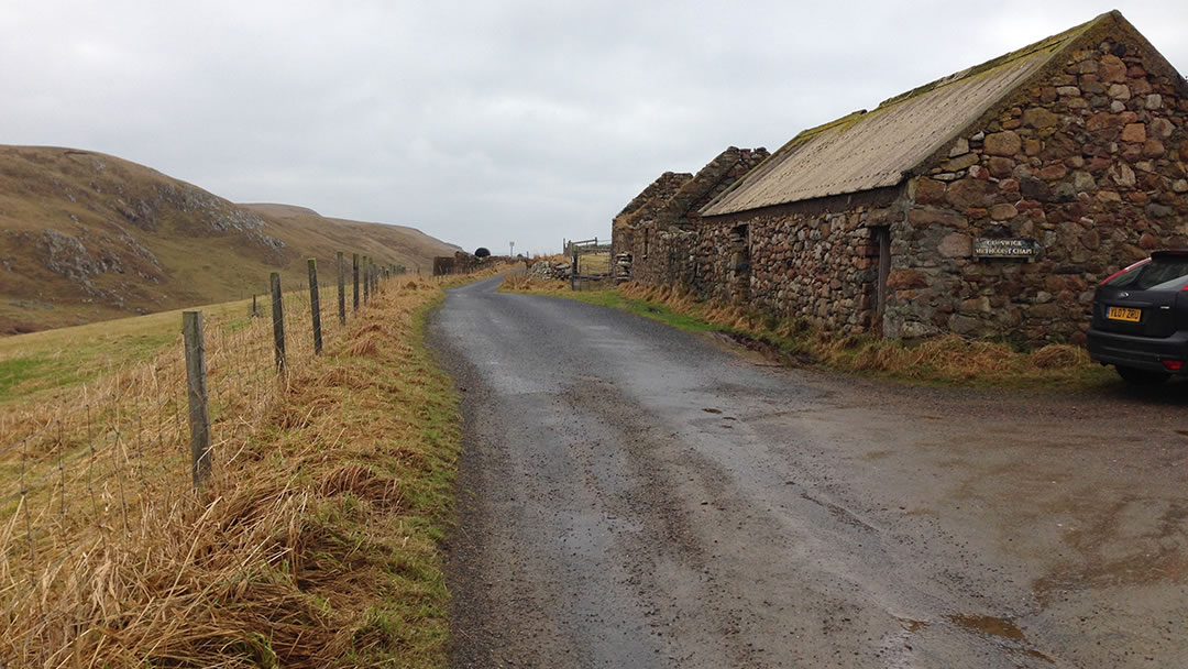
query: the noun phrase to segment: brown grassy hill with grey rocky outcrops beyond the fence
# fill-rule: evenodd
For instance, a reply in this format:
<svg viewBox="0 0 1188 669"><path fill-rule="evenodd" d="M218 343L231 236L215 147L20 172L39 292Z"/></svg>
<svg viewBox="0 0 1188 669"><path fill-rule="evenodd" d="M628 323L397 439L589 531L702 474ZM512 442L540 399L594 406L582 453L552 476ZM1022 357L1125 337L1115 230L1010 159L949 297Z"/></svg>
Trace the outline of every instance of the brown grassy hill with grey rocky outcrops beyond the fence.
<svg viewBox="0 0 1188 669"><path fill-rule="evenodd" d="M263 294L274 271L295 286L307 258L329 271L336 251L426 270L457 250L415 228L235 204L102 153L0 146L0 334Z"/></svg>

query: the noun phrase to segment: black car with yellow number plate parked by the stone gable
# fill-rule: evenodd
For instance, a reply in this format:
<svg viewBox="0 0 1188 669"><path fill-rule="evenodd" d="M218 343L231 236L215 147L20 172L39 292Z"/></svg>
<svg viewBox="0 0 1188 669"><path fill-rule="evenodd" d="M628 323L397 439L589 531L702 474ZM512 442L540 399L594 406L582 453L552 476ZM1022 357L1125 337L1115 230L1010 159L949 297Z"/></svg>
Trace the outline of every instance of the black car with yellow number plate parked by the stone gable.
<svg viewBox="0 0 1188 669"><path fill-rule="evenodd" d="M1089 356L1132 384L1188 373L1188 250L1156 251L1093 297Z"/></svg>

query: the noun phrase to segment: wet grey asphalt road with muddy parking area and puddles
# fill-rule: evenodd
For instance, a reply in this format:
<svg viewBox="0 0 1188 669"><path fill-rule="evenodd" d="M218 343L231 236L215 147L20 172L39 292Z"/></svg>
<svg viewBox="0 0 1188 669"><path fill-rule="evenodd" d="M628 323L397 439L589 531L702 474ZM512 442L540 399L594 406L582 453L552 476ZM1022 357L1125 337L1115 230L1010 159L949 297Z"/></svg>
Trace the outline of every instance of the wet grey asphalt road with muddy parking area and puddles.
<svg viewBox="0 0 1188 669"><path fill-rule="evenodd" d="M453 667L1188 667L1188 384L903 387L450 292Z"/></svg>

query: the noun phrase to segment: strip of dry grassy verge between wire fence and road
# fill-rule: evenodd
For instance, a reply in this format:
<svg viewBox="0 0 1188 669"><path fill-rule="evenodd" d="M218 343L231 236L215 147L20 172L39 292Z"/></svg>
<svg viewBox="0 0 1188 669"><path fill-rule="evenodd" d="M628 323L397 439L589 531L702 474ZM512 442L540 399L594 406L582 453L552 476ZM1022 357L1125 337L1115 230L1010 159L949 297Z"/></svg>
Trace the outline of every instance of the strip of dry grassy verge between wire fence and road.
<svg viewBox="0 0 1188 669"><path fill-rule="evenodd" d="M201 493L131 509L6 611L0 665L443 667L460 425L424 323L491 273L387 282L216 444Z"/></svg>

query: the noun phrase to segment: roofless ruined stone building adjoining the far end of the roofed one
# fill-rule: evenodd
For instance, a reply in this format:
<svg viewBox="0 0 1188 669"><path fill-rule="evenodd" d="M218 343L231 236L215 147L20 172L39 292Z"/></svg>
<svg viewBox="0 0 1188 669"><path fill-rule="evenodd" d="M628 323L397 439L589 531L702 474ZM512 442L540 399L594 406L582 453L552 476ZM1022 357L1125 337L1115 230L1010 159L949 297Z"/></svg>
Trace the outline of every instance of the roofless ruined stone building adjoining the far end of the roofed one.
<svg viewBox="0 0 1188 669"><path fill-rule="evenodd" d="M691 283L701 208L767 158L766 149L731 146L696 175L664 172L612 222L612 253L630 257L633 280Z"/></svg>

